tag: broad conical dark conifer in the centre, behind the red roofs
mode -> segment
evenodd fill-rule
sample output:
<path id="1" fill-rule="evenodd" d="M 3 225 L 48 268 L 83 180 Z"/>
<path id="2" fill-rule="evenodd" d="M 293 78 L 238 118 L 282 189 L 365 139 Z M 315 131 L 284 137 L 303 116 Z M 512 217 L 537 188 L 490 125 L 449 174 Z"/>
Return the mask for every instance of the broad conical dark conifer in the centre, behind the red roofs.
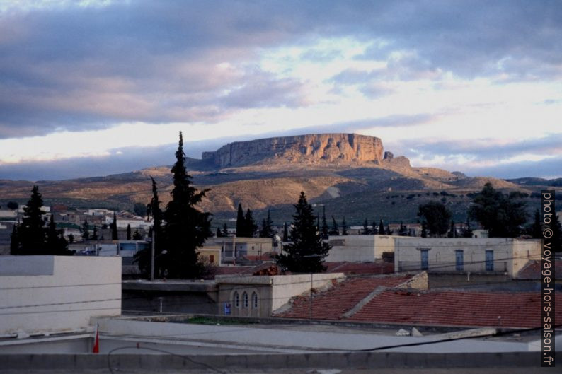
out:
<path id="1" fill-rule="evenodd" d="M 301 192 L 299 201 L 294 205 L 293 225 L 290 243 L 283 248 L 284 253 L 277 255 L 277 264 L 285 271 L 294 273 L 317 273 L 325 271 L 324 258 L 328 255 L 330 245 L 322 240 L 316 230 L 314 211 Z"/>

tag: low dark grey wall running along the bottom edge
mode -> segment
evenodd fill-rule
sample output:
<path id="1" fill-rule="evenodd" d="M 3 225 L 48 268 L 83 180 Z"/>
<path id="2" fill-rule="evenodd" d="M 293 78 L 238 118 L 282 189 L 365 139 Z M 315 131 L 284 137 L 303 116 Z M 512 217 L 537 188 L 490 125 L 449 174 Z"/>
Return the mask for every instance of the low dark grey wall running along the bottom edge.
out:
<path id="1" fill-rule="evenodd" d="M 179 356 L 166 354 L 0 355 L 3 370 L 202 368 L 540 368 L 539 352 L 512 353 L 306 353 Z M 477 359 L 476 359 L 477 357 Z M 562 352 L 556 352 L 556 361 Z"/>

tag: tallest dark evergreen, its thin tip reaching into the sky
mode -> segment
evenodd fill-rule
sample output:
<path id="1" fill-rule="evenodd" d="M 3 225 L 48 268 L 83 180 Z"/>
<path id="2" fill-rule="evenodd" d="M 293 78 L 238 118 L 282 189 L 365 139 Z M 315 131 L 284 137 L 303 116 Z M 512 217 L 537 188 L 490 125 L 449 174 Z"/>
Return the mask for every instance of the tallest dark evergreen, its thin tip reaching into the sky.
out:
<path id="1" fill-rule="evenodd" d="M 173 165 L 173 189 L 164 218 L 166 226 L 166 247 L 164 266 L 170 278 L 197 278 L 203 266 L 199 261 L 197 248 L 212 236 L 211 214 L 199 211 L 195 206 L 205 197 L 208 189 L 197 191 L 191 176 L 185 170 L 183 135 L 180 132 L 176 163 Z"/>

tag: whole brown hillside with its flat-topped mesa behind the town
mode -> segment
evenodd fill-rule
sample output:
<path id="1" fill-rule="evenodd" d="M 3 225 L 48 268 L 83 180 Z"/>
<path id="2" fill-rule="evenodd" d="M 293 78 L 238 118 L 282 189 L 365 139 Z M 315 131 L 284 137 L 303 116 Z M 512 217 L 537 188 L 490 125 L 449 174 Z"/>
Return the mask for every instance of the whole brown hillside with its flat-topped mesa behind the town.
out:
<path id="1" fill-rule="evenodd" d="M 201 160 L 188 159 L 187 165 L 195 185 L 210 188 L 201 207 L 211 211 L 217 223 L 234 218 L 239 203 L 256 211 L 258 220 L 271 209 L 276 223 L 290 221 L 300 191 L 324 206 L 328 217 L 345 216 L 355 225 L 365 218 L 415 222 L 418 204 L 431 199 L 444 201 L 454 219 L 464 221 L 471 194 L 486 182 L 505 192 L 529 194 L 529 212 L 539 204 L 530 195 L 549 184 L 539 178 L 507 181 L 413 168 L 407 158 L 384 152 L 381 139 L 357 134 L 237 142 L 205 152 Z M 0 180 L 0 205 L 10 200 L 25 204 L 37 184 L 46 204 L 132 209 L 135 202 L 150 200 L 150 176 L 158 182 L 160 198 L 166 203 L 172 185 L 170 167 L 157 166 L 55 182 Z"/>

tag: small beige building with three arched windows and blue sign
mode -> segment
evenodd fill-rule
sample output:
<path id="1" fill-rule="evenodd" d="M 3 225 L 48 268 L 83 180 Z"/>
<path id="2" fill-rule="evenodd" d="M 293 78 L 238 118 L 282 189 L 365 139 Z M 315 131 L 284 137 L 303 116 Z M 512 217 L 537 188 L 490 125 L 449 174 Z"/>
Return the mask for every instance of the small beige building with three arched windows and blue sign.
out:
<path id="1" fill-rule="evenodd" d="M 274 276 L 217 276 L 219 315 L 270 317 L 292 297 L 306 291 L 328 288 L 343 273 Z"/>

